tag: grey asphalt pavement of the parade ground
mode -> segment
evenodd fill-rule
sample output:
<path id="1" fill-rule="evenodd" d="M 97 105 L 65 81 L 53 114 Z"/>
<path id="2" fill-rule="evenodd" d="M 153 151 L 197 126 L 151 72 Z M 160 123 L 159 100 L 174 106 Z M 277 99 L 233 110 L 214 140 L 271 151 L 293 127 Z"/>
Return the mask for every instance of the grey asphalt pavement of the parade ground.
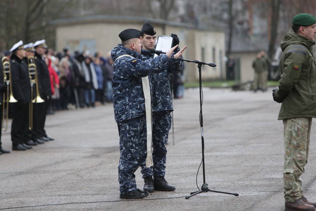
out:
<path id="1" fill-rule="evenodd" d="M 170 131 L 167 145 L 165 178 L 175 191 L 156 191 L 145 200 L 119 198 L 119 136 L 113 106 L 106 104 L 48 115 L 46 132 L 54 141 L 0 155 L 0 210 L 284 210 L 281 104 L 271 93 L 204 88 L 206 183 L 239 196 L 184 198 L 198 190 L 202 158 L 199 91 L 187 89 L 185 98 L 174 100 L 175 144 Z M 302 181 L 304 195 L 315 201 L 315 124 L 311 131 Z M 10 127 L 1 141 L 11 150 Z M 142 189 L 140 170 L 136 181 Z M 197 184 L 203 184 L 202 167 Z"/>

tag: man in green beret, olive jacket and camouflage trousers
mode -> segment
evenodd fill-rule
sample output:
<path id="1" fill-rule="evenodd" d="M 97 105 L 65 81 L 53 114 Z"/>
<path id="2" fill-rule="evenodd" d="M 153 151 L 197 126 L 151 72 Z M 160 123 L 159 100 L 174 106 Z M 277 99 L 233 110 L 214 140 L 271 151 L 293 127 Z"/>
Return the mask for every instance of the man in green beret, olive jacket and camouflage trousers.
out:
<path id="1" fill-rule="evenodd" d="M 307 164 L 312 117 L 316 117 L 316 18 L 302 13 L 293 18 L 292 24 L 281 42 L 282 75 L 278 88 L 273 90 L 273 99 L 282 102 L 278 119 L 284 124 L 285 210 L 315 210 L 316 203 L 303 196 L 300 176 Z"/>

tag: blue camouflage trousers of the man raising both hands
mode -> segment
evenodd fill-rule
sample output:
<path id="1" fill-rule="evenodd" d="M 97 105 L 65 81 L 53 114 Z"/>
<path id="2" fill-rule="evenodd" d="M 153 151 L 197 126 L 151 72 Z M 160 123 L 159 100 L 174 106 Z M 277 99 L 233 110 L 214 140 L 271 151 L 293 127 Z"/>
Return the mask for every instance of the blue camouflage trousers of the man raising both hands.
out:
<path id="1" fill-rule="evenodd" d="M 119 186 L 125 194 L 137 189 L 135 171 L 146 159 L 146 118 L 145 115 L 119 122 Z M 143 158 L 143 156 L 145 156 Z"/>

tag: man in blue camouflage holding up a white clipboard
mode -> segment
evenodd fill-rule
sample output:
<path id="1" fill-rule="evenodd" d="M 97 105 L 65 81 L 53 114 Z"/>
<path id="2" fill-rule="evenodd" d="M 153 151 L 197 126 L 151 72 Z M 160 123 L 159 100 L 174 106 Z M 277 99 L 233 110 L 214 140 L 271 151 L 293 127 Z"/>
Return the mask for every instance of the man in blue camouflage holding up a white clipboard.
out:
<path id="1" fill-rule="evenodd" d="M 140 40 L 143 44 L 142 57 L 145 60 L 153 58 L 154 54 L 149 50 L 155 47 L 156 42 L 155 28 L 145 23 L 142 28 Z M 179 44 L 179 39 L 176 34 L 173 37 L 173 46 Z M 176 52 L 179 52 L 179 47 Z M 175 187 L 168 184 L 165 180 L 166 169 L 166 144 L 168 141 L 168 134 L 171 128 L 171 115 L 173 111 L 172 99 L 170 94 L 170 85 L 168 73 L 176 73 L 183 71 L 183 61 L 171 60 L 168 66 L 159 73 L 150 75 L 151 93 L 152 93 L 152 111 L 153 111 L 153 161 L 152 168 L 146 168 L 145 159 L 141 164 L 143 179 L 145 182 L 144 190 L 154 192 L 154 190 L 172 191 Z M 146 158 L 146 157 L 145 157 Z M 154 175 L 154 180 L 153 180 Z"/>

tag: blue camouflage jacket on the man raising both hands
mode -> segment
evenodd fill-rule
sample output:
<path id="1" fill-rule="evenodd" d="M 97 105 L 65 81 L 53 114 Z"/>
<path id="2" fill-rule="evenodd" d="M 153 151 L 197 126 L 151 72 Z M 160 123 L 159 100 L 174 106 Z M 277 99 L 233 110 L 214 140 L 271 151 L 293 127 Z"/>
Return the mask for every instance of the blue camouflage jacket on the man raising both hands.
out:
<path id="1" fill-rule="evenodd" d="M 134 58 L 120 55 L 129 54 Z M 166 54 L 143 60 L 141 54 L 119 44 L 111 51 L 113 59 L 113 107 L 116 122 L 126 121 L 145 114 L 142 77 L 163 71 L 169 64 Z M 149 79 L 150 80 L 150 79 Z"/>

